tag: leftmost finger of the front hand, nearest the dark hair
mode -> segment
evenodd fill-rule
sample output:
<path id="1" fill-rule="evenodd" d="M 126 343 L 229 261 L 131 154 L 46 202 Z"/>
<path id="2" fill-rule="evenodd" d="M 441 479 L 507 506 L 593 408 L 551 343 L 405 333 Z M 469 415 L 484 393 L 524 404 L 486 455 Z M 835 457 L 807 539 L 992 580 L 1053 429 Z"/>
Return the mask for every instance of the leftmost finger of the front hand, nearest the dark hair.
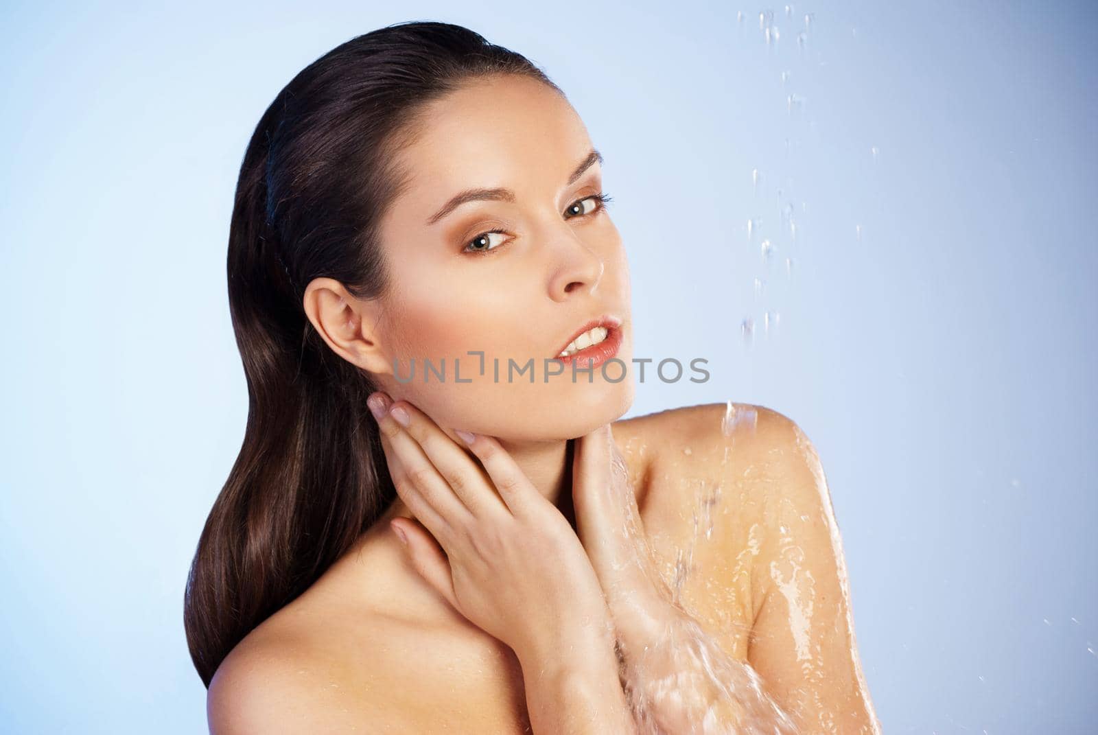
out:
<path id="1" fill-rule="evenodd" d="M 378 398 L 374 394 L 367 399 L 371 404 L 371 412 L 378 405 Z M 434 513 L 425 512 L 421 515 L 416 511 L 416 506 L 412 505 L 408 500 L 404 502 L 408 503 L 408 508 L 416 514 L 416 517 L 423 521 L 435 538 L 448 544 L 455 528 L 468 525 L 473 520 L 469 509 L 446 485 L 435 466 L 419 448 L 419 444 L 393 417 L 391 402 L 389 402 L 388 411 L 374 412 L 374 417 L 382 435 L 389 441 L 390 450 L 400 457 L 401 470 L 397 477 L 393 478 L 397 493 L 402 499 L 407 495 L 410 500 L 413 495 L 418 494 L 419 501 L 422 501 L 417 502 L 419 508 L 423 509 L 423 505 L 426 504 Z M 438 524 L 435 521 L 437 517 L 440 517 L 445 524 Z"/>

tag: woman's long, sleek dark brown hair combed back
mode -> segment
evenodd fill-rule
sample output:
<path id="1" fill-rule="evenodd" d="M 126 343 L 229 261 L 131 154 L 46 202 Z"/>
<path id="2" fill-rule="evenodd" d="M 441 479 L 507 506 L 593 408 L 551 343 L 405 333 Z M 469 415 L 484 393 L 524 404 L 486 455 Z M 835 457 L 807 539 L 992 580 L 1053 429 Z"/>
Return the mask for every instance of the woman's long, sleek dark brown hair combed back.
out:
<path id="1" fill-rule="evenodd" d="M 209 687 L 251 630 L 310 587 L 395 499 L 366 399 L 302 308 L 334 278 L 392 287 L 378 224 L 406 186 L 395 154 L 425 104 L 496 74 L 560 89 L 526 57 L 460 25 L 389 25 L 333 48 L 278 93 L 248 142 L 228 231 L 228 305 L 248 385 L 239 456 L 199 538 L 183 601 Z"/>

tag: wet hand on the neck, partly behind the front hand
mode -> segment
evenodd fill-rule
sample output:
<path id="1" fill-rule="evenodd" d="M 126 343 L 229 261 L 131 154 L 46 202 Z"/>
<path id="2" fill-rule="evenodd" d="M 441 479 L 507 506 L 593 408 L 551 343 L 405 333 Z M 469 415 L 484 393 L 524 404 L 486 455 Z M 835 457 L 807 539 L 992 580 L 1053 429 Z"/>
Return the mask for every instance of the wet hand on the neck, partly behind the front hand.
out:
<path id="1" fill-rule="evenodd" d="M 628 468 L 609 424 L 575 439 L 572 503 L 576 535 L 606 595 L 620 643 L 642 649 L 680 611 L 648 546 Z"/>

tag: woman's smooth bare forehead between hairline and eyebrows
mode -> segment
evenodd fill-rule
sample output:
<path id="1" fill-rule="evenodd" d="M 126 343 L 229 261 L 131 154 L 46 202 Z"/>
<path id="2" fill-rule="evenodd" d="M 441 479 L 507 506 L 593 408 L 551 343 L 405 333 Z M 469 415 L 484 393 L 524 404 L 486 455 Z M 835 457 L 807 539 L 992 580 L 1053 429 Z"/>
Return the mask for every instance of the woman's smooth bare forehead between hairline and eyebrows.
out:
<path id="1" fill-rule="evenodd" d="M 572 105 L 544 82 L 514 75 L 469 82 L 426 109 L 401 152 L 408 197 L 418 200 L 406 203 L 437 208 L 440 196 L 479 186 L 556 189 L 591 147 Z"/>

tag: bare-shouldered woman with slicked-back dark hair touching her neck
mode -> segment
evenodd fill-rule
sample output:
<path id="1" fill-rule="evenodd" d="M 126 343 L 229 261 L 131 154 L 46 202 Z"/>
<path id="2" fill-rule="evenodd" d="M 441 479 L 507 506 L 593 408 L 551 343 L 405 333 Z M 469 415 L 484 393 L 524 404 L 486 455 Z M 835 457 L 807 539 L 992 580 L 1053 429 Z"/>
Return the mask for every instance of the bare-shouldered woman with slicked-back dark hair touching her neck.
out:
<path id="1" fill-rule="evenodd" d="M 186 600 L 212 732 L 877 732 L 796 424 L 618 420 L 601 163 L 537 67 L 445 23 L 266 111 L 229 233 L 248 424 Z"/>

